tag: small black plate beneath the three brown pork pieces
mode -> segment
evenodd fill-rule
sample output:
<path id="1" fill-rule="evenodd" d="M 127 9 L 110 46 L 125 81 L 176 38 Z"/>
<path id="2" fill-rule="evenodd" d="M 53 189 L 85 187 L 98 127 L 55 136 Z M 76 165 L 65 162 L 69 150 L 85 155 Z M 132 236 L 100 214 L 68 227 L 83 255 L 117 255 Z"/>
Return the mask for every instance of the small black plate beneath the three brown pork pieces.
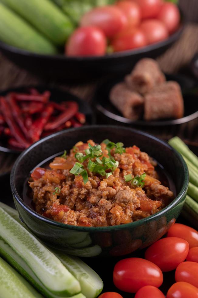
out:
<path id="1" fill-rule="evenodd" d="M 111 88 L 120 81 L 123 81 L 123 76 L 119 78 L 109 79 L 98 86 L 94 100 L 97 113 L 102 114 L 103 119 L 118 123 L 141 125 L 141 126 L 166 126 L 188 122 L 198 117 L 198 91 L 195 89 L 196 81 L 183 75 L 166 75 L 166 79 L 177 81 L 182 88 L 184 98 L 184 117 L 180 119 L 165 119 L 157 121 L 145 121 L 143 119 L 132 121 L 121 115 L 121 113 L 111 104 L 109 100 L 109 92 Z M 104 120 L 103 120 L 104 121 Z M 104 124 L 104 123 L 103 123 Z"/>

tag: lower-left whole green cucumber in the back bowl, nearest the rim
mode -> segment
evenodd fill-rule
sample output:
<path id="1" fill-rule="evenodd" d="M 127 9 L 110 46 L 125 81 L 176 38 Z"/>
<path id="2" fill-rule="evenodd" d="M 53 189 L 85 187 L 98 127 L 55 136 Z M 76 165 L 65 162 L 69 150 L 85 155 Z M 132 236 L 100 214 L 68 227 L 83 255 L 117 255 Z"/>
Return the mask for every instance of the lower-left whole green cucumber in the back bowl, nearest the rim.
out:
<path id="1" fill-rule="evenodd" d="M 49 40 L 2 3 L 0 3 L 0 40 L 30 52 L 40 54 L 57 52 Z"/>

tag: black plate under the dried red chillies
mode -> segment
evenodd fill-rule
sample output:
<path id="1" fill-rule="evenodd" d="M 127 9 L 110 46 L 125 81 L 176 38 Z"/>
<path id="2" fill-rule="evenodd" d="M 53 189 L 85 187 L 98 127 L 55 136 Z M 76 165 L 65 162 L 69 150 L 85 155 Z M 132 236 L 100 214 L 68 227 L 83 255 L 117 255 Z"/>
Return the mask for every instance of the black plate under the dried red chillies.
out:
<path id="1" fill-rule="evenodd" d="M 9 92 L 26 92 L 29 88 L 36 88 L 41 93 L 44 92 L 45 90 L 49 90 L 51 92 L 50 100 L 52 100 L 54 102 L 62 102 L 62 101 L 77 102 L 79 105 L 79 111 L 81 113 L 84 113 L 86 116 L 86 120 L 87 120 L 86 123 L 94 124 L 94 122 L 95 122 L 94 115 L 93 115 L 92 109 L 90 108 L 88 103 L 85 102 L 84 100 L 78 98 L 77 96 L 72 95 L 71 93 L 61 90 L 61 89 L 47 87 L 47 86 L 23 86 L 23 87 L 19 87 L 19 88 L 11 88 L 11 89 L 7 89 L 5 91 L 1 91 L 0 96 L 4 96 Z M 22 150 L 8 145 L 6 140 L 2 141 L 0 138 L 0 151 L 19 154 L 19 153 L 21 153 Z"/>

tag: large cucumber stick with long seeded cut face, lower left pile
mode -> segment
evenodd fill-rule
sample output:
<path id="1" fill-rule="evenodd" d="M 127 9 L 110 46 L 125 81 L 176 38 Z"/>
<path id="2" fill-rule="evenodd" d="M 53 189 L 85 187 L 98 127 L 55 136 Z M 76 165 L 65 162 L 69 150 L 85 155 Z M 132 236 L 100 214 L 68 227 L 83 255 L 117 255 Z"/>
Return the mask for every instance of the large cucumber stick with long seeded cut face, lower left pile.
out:
<path id="1" fill-rule="evenodd" d="M 42 284 L 58 296 L 80 293 L 80 284 L 58 258 L 0 207 L 0 236 L 32 269 Z"/>

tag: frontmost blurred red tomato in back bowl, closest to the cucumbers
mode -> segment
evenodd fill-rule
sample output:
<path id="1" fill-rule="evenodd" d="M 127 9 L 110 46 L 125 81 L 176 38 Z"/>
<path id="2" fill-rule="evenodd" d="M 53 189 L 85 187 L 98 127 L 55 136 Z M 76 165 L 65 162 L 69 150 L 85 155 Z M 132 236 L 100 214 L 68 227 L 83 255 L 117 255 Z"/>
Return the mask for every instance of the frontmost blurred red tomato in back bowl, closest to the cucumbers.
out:
<path id="1" fill-rule="evenodd" d="M 100 56 L 106 52 L 104 33 L 93 26 L 76 29 L 66 45 L 68 56 Z"/>

